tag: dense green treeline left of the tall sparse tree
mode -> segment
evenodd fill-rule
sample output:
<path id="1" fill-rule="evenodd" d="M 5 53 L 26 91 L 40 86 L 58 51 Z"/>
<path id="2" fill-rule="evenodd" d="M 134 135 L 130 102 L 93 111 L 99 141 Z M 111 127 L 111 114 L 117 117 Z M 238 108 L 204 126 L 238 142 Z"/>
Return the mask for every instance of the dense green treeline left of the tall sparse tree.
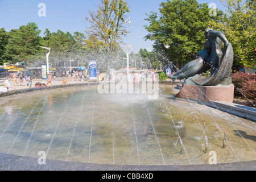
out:
<path id="1" fill-rule="evenodd" d="M 58 61 L 65 60 L 67 57 L 75 58 L 84 49 L 85 35 L 80 32 L 50 32 L 48 28 L 44 32 L 44 37 L 40 37 L 40 30 L 36 23 L 28 23 L 26 26 L 20 26 L 6 32 L 4 28 L 0 29 L 0 65 L 4 62 L 15 64 L 24 61 L 27 65 L 33 65 L 35 60 L 45 60 L 46 49 L 51 48 L 51 63 L 53 67 Z"/>

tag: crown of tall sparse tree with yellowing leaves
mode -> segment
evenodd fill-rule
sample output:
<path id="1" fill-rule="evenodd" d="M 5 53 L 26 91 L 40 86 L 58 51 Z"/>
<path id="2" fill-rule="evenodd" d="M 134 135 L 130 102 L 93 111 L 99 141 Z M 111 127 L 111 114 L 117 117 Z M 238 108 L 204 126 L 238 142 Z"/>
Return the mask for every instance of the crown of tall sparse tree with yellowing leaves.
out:
<path id="1" fill-rule="evenodd" d="M 91 25 L 85 31 L 88 37 L 86 47 L 117 51 L 121 36 L 127 33 L 123 27 L 127 12 L 129 7 L 123 0 L 101 0 L 97 12 L 89 10 L 89 16 L 85 17 Z"/>

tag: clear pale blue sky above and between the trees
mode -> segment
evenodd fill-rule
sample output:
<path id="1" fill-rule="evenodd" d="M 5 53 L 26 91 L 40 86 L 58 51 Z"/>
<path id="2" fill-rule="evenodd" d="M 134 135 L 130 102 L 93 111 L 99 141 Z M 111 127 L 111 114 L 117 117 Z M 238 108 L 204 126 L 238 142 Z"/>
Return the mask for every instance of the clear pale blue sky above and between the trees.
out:
<path id="1" fill-rule="evenodd" d="M 131 18 L 129 24 L 129 35 L 123 38 L 125 44 L 131 45 L 130 52 L 137 53 L 140 48 L 146 48 L 152 51 L 150 40 L 145 41 L 144 36 L 147 31 L 144 25 L 148 22 L 144 20 L 151 11 L 159 12 L 159 5 L 166 0 L 126 0 L 130 7 L 130 13 L 127 13 L 127 19 Z M 220 0 L 197 0 L 199 3 L 215 3 L 216 7 L 222 11 L 225 10 Z M 42 9 L 39 3 L 46 5 L 45 16 L 39 16 L 38 11 Z M 51 32 L 61 30 L 64 32 L 84 32 L 86 26 L 85 16 L 88 10 L 97 10 L 100 0 L 0 0 L 0 28 L 6 31 L 19 28 L 29 22 L 35 22 L 39 30 L 42 30 L 40 36 L 43 36 L 46 28 Z M 39 6 L 39 7 L 38 7 Z M 40 11 L 41 12 L 41 11 Z"/>

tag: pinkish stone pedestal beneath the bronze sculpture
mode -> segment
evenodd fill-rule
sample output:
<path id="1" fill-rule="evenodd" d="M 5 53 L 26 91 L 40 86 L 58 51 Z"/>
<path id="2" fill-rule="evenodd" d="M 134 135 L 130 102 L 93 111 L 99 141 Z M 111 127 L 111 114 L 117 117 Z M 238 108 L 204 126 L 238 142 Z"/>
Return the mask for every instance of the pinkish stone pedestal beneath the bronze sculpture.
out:
<path id="1" fill-rule="evenodd" d="M 175 97 L 187 98 L 196 101 L 226 101 L 233 102 L 234 85 L 228 86 L 198 86 L 183 84 Z"/>

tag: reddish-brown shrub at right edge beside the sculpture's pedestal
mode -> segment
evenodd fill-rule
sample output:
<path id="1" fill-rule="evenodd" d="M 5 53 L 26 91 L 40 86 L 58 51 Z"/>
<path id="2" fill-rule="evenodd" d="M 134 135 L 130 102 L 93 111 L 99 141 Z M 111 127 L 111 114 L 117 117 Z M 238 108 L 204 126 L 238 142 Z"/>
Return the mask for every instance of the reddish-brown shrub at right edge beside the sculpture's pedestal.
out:
<path id="1" fill-rule="evenodd" d="M 235 86 L 235 94 L 243 94 L 246 98 L 256 103 L 256 74 L 254 73 L 233 73 L 232 82 Z"/>

